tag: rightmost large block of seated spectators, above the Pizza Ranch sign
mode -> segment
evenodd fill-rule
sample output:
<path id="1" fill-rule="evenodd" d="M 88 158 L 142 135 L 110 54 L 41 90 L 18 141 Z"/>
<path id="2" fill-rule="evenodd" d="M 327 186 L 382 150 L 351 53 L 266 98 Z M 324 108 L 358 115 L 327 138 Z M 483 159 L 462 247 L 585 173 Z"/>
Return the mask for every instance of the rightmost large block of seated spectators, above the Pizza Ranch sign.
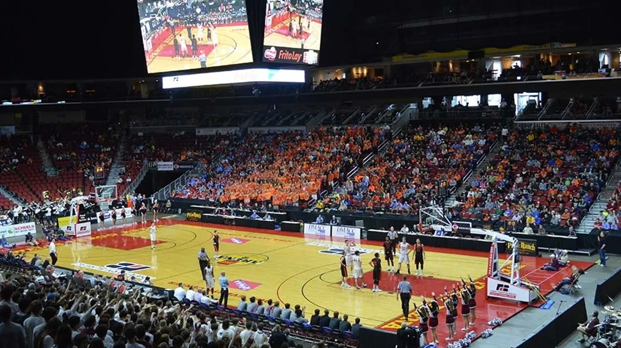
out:
<path id="1" fill-rule="evenodd" d="M 516 130 L 458 196 L 453 216 L 577 225 L 619 157 L 615 129 Z"/>

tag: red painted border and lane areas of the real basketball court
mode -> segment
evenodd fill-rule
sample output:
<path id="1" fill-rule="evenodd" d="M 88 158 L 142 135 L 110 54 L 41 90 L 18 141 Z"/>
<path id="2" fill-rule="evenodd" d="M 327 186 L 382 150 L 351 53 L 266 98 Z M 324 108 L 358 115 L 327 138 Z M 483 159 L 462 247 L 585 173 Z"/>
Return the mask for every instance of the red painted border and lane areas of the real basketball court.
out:
<path id="1" fill-rule="evenodd" d="M 302 235 L 301 233 L 294 233 L 294 232 L 280 232 L 280 231 L 271 231 L 271 230 L 261 230 L 258 228 L 237 227 L 237 226 L 232 226 L 232 227 L 226 226 L 225 227 L 223 225 L 204 224 L 201 222 L 190 222 L 190 221 L 171 220 L 171 219 L 161 219 L 159 224 L 160 225 L 184 224 L 184 225 L 194 225 L 194 226 L 201 226 L 201 227 L 211 227 L 211 228 L 234 228 L 237 230 L 263 233 L 263 234 L 269 234 L 269 235 L 274 235 L 274 236 L 286 235 L 289 237 L 300 237 L 300 238 L 304 237 L 304 235 Z M 134 248 L 138 248 L 138 247 L 141 247 L 142 244 L 145 244 L 144 246 L 147 246 L 150 244 L 150 241 L 148 241 L 147 239 L 127 237 L 127 236 L 124 236 L 123 233 L 130 232 L 137 228 L 144 228 L 145 226 L 149 226 L 149 225 L 150 225 L 150 221 L 144 225 L 143 224 L 136 224 L 136 225 L 127 224 L 124 226 L 119 226 L 119 227 L 114 227 L 114 228 L 112 227 L 103 228 L 99 232 L 93 232 L 94 237 L 99 237 L 99 238 L 93 238 L 93 244 L 96 244 L 98 243 L 99 240 L 101 240 L 102 246 L 107 246 L 107 247 L 112 247 L 112 248 L 121 248 L 124 250 L 131 250 Z M 110 238 L 107 238 L 107 237 L 110 237 Z M 133 238 L 133 239 L 129 240 L 127 238 Z M 109 240 L 109 241 L 114 240 L 114 243 L 109 244 L 106 242 L 106 240 Z M 334 241 L 337 241 L 337 240 L 334 240 Z M 47 240 L 39 240 L 39 242 L 42 243 L 42 245 L 39 247 L 18 245 L 16 250 L 26 251 L 26 250 L 38 250 L 42 248 L 47 248 L 47 245 L 48 245 Z M 67 241 L 60 242 L 60 243 L 67 243 Z M 138 246 L 137 244 L 141 246 Z M 381 246 L 381 243 L 379 241 L 362 240 L 361 245 Z M 447 249 L 447 248 L 431 248 L 431 247 L 428 247 L 427 250 L 434 251 L 434 252 L 440 252 L 440 253 L 453 253 L 453 254 L 459 253 L 459 254 L 468 254 L 472 256 L 483 256 L 483 257 L 488 256 L 488 253 L 483 252 L 483 251 L 453 250 L 453 249 Z M 503 259 L 502 255 L 500 258 L 502 262 L 502 259 Z M 552 291 L 556 283 L 558 283 L 559 281 L 561 281 L 561 279 L 571 274 L 571 266 L 563 268 L 558 272 L 549 272 L 549 271 L 541 270 L 540 268 L 543 266 L 543 264 L 548 262 L 548 260 L 549 258 L 546 257 L 545 255 L 544 257 L 541 257 L 541 258 L 535 258 L 533 256 L 523 256 L 522 263 L 520 264 L 520 275 L 522 276 L 522 278 L 532 282 L 533 284 L 540 285 L 543 295 L 549 294 Z M 576 265 L 578 268 L 582 268 L 585 270 L 588 268 L 591 268 L 591 266 L 594 265 L 594 263 L 584 262 L 584 261 L 571 261 L 570 264 Z M 458 265 L 455 265 L 455 266 L 458 267 Z M 364 276 L 364 279 L 367 284 L 373 284 L 371 272 L 367 272 Z M 397 276 L 395 274 L 392 274 L 391 272 L 383 272 L 382 279 L 380 282 L 380 287 L 386 292 L 392 292 L 394 291 L 394 289 L 396 289 L 396 285 L 400 280 L 401 280 L 401 276 Z M 430 298 L 432 297 L 431 296 L 432 292 L 435 292 L 436 294 L 442 294 L 445 285 L 451 288 L 452 285 L 455 284 L 455 281 L 450 281 L 450 280 L 442 279 L 438 277 L 434 277 L 434 278 L 424 277 L 423 279 L 420 279 L 415 276 L 408 276 L 408 280 L 412 283 L 412 287 L 414 288 L 413 300 L 415 300 L 417 303 L 420 303 L 420 296 Z M 485 295 L 486 294 L 486 282 L 485 282 L 484 277 L 482 277 L 481 279 L 477 279 L 476 285 L 478 288 L 478 292 L 476 295 L 476 302 L 477 302 L 476 317 L 477 318 L 476 318 L 476 326 L 474 326 L 471 329 L 474 329 L 474 331 L 477 333 L 477 336 L 479 336 L 479 334 L 483 332 L 485 329 L 489 328 L 489 326 L 487 326 L 487 321 L 492 320 L 493 318 L 501 318 L 503 321 L 506 321 L 527 307 L 527 305 L 524 305 L 522 303 L 515 303 L 515 302 L 509 302 L 509 301 L 497 300 L 497 299 L 487 299 Z M 440 312 L 440 318 L 439 318 L 440 325 L 438 326 L 438 336 L 440 338 L 441 343 L 446 342 L 445 337 L 448 336 L 448 329 L 446 328 L 446 325 L 445 325 L 445 319 L 446 319 L 446 311 L 442 309 Z M 404 317 L 402 315 L 396 316 L 392 320 L 389 320 L 386 323 L 379 325 L 377 328 L 384 329 L 387 331 L 396 331 L 396 329 L 401 327 L 401 323 L 403 320 L 404 320 Z M 408 323 L 418 324 L 418 317 L 413 308 L 412 308 L 412 311 L 410 311 Z M 459 318 L 457 318 L 457 321 L 456 321 L 456 339 L 460 339 L 465 336 L 465 333 L 461 331 L 461 328 L 463 328 L 463 318 L 460 316 Z"/>

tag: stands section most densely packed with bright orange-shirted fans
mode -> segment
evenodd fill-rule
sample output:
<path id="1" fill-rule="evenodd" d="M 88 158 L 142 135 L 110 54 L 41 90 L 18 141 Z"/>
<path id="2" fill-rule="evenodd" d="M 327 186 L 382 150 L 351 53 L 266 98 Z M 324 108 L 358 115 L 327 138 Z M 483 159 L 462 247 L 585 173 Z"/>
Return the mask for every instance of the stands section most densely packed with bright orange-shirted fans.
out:
<path id="1" fill-rule="evenodd" d="M 304 204 L 373 152 L 386 129 L 315 128 L 310 133 L 248 134 L 229 144 L 213 173 L 177 197 L 231 202 Z"/>

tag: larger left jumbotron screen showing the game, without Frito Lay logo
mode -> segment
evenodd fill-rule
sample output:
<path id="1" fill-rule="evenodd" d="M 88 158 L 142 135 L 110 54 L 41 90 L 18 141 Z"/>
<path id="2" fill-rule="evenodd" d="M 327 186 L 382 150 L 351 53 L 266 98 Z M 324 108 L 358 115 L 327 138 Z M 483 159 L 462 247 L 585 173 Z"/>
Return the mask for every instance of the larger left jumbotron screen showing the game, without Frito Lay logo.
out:
<path id="1" fill-rule="evenodd" d="M 252 63 L 245 0 L 137 0 L 149 74 Z"/>

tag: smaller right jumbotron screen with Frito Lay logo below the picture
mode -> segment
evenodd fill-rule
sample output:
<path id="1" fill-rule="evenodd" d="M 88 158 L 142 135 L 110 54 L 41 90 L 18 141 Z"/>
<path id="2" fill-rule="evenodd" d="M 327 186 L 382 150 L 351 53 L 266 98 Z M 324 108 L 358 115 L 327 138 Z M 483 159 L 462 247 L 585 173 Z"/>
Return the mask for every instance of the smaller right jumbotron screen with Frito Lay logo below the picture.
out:
<path id="1" fill-rule="evenodd" d="M 324 0 L 268 0 L 263 61 L 318 64 Z"/>

